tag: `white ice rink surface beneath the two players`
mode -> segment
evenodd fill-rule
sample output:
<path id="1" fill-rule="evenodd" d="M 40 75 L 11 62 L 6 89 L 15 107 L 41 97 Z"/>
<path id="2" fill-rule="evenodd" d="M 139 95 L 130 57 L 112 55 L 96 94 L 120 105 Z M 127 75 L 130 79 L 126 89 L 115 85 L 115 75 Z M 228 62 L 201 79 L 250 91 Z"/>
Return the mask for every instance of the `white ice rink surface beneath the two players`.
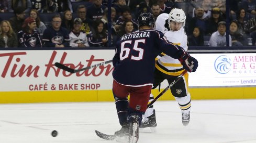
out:
<path id="1" fill-rule="evenodd" d="M 192 100 L 191 121 L 183 126 L 176 101 L 154 103 L 157 132 L 140 133 L 138 142 L 256 142 L 256 100 Z M 95 129 L 120 129 L 114 102 L 0 105 L 0 142 L 116 142 Z M 58 131 L 57 137 L 51 132 Z"/>

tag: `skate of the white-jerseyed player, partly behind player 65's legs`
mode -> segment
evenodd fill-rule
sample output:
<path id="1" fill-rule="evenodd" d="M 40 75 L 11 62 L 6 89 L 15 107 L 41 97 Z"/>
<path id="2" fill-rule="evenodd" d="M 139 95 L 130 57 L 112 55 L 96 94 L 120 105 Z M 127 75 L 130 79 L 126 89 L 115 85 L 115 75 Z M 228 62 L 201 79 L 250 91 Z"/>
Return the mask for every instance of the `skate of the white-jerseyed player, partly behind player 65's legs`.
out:
<path id="1" fill-rule="evenodd" d="M 157 126 L 157 120 L 155 120 L 155 110 L 153 110 L 152 115 L 142 119 L 140 128 L 150 127 L 151 132 L 155 132 L 156 126 Z"/>

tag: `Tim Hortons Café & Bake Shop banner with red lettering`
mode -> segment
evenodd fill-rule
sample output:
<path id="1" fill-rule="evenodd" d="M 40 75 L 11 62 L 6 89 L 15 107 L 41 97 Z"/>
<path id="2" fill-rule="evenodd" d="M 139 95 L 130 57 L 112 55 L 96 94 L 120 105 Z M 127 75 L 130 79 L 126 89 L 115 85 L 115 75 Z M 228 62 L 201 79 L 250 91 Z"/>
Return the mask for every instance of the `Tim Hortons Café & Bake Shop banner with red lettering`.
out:
<path id="1" fill-rule="evenodd" d="M 82 69 L 112 60 L 114 54 L 115 50 L 0 50 L 0 92 L 111 89 L 111 62 L 76 73 L 54 63 Z"/>

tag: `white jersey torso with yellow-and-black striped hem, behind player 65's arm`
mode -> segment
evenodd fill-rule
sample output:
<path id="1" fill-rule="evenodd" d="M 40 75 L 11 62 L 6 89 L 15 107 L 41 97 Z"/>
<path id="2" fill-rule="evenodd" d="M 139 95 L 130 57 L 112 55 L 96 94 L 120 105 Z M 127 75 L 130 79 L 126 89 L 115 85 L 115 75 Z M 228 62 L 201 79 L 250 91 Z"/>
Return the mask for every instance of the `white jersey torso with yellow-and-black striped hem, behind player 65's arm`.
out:
<path id="1" fill-rule="evenodd" d="M 187 35 L 183 27 L 178 31 L 163 31 L 167 40 L 172 42 L 174 45 L 179 45 L 187 51 Z M 180 75 L 184 70 L 182 69 L 182 64 L 179 60 L 174 59 L 170 56 L 163 54 L 155 64 L 155 68 L 161 72 L 173 76 Z"/>

